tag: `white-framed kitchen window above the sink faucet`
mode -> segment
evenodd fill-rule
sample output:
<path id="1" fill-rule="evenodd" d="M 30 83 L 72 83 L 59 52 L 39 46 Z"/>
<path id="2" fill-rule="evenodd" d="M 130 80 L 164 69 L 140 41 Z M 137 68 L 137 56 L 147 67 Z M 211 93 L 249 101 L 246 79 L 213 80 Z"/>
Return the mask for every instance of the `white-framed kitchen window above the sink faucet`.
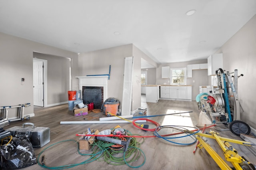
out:
<path id="1" fill-rule="evenodd" d="M 170 69 L 170 85 L 186 85 L 186 67 Z"/>

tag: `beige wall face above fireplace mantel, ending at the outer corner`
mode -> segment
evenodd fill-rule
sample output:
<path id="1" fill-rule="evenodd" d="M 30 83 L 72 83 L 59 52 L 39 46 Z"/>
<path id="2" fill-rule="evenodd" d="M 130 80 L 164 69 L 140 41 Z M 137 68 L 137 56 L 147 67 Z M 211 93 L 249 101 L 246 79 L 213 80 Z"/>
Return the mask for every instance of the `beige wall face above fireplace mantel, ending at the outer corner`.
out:
<path id="1" fill-rule="evenodd" d="M 76 76 L 108 74 L 111 65 L 107 97 L 116 98 L 120 102 L 119 109 L 121 109 L 125 57 L 132 57 L 132 44 L 80 53 L 79 73 Z"/>

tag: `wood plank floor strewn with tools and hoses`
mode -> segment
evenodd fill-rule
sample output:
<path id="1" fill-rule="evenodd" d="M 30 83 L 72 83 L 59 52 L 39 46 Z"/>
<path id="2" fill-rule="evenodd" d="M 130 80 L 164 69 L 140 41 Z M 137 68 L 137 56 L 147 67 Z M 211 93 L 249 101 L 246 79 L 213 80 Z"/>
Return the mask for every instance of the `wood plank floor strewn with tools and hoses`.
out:
<path id="1" fill-rule="evenodd" d="M 188 112 L 192 113 L 183 113 L 176 115 L 160 116 L 160 117 L 149 117 L 148 119 L 158 122 L 160 125 L 176 125 L 176 126 L 188 126 L 195 127 L 198 123 L 199 113 L 196 101 L 170 101 L 170 100 L 160 100 L 158 103 L 146 103 L 142 96 L 142 105 L 141 107 L 147 108 L 147 115 L 162 115 L 169 113 L 179 113 L 179 112 Z M 132 134 L 140 134 L 146 136 L 154 135 L 153 132 L 144 132 L 131 123 L 107 123 L 107 124 L 68 124 L 60 125 L 60 121 L 86 121 L 89 117 L 94 117 L 91 119 L 96 121 L 99 117 L 106 117 L 102 113 L 90 113 L 88 116 L 74 117 L 72 111 L 68 111 L 68 105 L 60 105 L 56 107 L 48 108 L 38 108 L 34 109 L 35 117 L 31 117 L 27 121 L 16 121 L 11 122 L 10 125 L 4 127 L 5 129 L 22 126 L 25 122 L 34 123 L 36 127 L 49 127 L 50 128 L 50 143 L 46 144 L 42 148 L 34 148 L 36 157 L 40 154 L 42 150 L 46 147 L 60 142 L 63 140 L 78 140 L 76 134 L 82 134 L 87 131 L 87 128 L 98 129 L 99 131 L 114 128 L 117 125 L 120 125 L 122 128 L 129 130 Z M 134 116 L 142 116 L 138 113 Z M 132 120 L 132 119 L 130 119 Z M 144 123 L 149 125 L 149 128 L 154 128 L 155 126 L 152 123 Z M 222 125 L 220 125 L 222 126 Z M 214 130 L 214 128 L 206 129 L 207 131 Z M 160 134 L 171 133 L 172 130 L 166 128 L 160 130 Z M 239 136 L 232 134 L 228 131 L 219 131 L 220 136 L 226 138 L 233 138 L 237 140 L 242 140 Z M 174 133 L 176 131 L 174 130 Z M 142 138 L 138 138 L 138 141 L 142 141 Z M 175 138 L 169 139 L 177 143 L 190 143 L 194 141 L 190 137 L 184 138 Z M 208 139 L 208 143 L 212 146 L 218 154 L 224 158 L 222 150 L 215 140 Z M 232 143 L 231 143 L 232 144 Z M 193 150 L 196 146 L 195 144 L 191 145 L 179 145 L 169 141 L 166 141 L 162 138 L 151 137 L 145 138 L 145 141 L 141 144 L 140 149 L 146 155 L 146 162 L 140 168 L 130 168 L 126 164 L 124 165 L 112 165 L 104 161 L 95 160 L 88 164 L 82 164 L 70 168 L 75 169 L 86 169 L 86 170 L 130 170 L 130 169 L 140 169 L 140 170 L 216 170 L 220 169 L 218 165 L 214 162 L 212 157 L 206 152 L 204 148 L 197 149 L 195 153 Z M 232 146 L 238 151 L 240 156 L 244 156 L 252 164 L 256 165 L 256 157 L 248 148 L 239 144 L 232 144 Z M 83 154 L 91 153 L 92 151 L 81 151 Z M 56 144 L 43 153 L 45 156 L 44 162 L 46 166 L 61 166 L 66 164 L 75 164 L 80 163 L 89 158 L 89 156 L 82 156 L 78 153 L 77 144 L 73 141 L 62 142 Z M 42 156 L 42 155 L 41 155 Z M 121 156 L 122 157 L 122 156 Z M 41 161 L 41 158 L 39 159 Z M 138 166 L 142 164 L 143 156 L 136 162 L 130 163 L 132 166 Z M 230 164 L 230 166 L 232 166 Z M 45 169 L 39 164 L 35 164 L 29 167 L 24 168 L 24 170 L 42 170 Z"/>

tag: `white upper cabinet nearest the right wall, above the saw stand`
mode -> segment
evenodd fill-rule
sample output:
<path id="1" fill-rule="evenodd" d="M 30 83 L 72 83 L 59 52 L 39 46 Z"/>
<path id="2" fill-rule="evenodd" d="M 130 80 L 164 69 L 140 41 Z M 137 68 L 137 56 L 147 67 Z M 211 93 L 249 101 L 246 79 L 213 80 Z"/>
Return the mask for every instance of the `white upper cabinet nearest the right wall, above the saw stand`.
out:
<path id="1" fill-rule="evenodd" d="M 216 69 L 223 68 L 222 53 L 210 55 L 207 59 L 208 75 L 216 75 Z"/>

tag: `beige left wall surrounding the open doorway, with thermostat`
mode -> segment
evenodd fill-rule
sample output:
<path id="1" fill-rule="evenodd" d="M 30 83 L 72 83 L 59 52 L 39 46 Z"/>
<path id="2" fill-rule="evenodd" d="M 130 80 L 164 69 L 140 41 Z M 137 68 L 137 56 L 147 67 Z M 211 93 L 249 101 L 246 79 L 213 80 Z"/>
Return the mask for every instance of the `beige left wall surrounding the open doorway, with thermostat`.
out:
<path id="1" fill-rule="evenodd" d="M 34 51 L 69 57 L 72 58 L 74 65 L 77 65 L 78 63 L 77 53 L 0 33 L 0 106 L 13 106 L 31 103 L 31 107 L 25 107 L 24 114 L 29 115 L 34 113 Z M 73 77 L 76 75 L 76 72 L 76 67 L 72 68 Z M 23 85 L 21 85 L 21 78 L 25 78 Z M 73 83 L 75 85 L 77 84 L 76 82 Z M 11 113 L 10 111 L 9 116 L 9 118 L 16 117 L 16 113 Z"/>

